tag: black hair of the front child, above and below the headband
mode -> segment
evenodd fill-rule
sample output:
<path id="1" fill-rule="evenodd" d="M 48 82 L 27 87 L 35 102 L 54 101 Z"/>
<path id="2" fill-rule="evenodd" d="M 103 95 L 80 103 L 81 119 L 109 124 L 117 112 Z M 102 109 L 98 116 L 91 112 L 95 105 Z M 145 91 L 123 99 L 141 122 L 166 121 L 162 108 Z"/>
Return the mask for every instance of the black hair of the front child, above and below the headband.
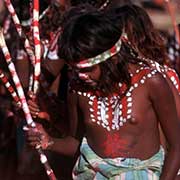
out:
<path id="1" fill-rule="evenodd" d="M 82 59 L 99 55 L 115 45 L 122 30 L 123 23 L 116 26 L 106 13 L 100 11 L 88 11 L 74 16 L 63 27 L 59 39 L 59 57 L 69 64 L 74 64 Z M 130 50 L 128 44 L 122 43 L 118 54 L 99 64 L 102 73 L 97 88 L 105 95 L 116 92 L 116 85 L 119 82 L 126 83 L 127 87 L 130 87 L 128 63 L 137 63 Z M 112 58 L 116 58 L 118 63 L 115 64 Z M 72 84 L 73 86 L 78 84 L 78 88 L 84 91 L 92 90 L 92 87 L 88 87 L 81 80 Z"/>

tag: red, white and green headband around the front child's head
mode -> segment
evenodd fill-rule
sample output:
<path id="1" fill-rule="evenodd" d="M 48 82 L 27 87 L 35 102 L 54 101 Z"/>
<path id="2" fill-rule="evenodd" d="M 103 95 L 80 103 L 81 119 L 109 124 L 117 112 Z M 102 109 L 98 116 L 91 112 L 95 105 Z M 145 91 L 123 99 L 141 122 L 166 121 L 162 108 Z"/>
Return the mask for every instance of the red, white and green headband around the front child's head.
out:
<path id="1" fill-rule="evenodd" d="M 105 51 L 93 58 L 89 58 L 89 59 L 80 61 L 79 63 L 76 64 L 76 67 L 80 68 L 80 69 L 88 68 L 88 67 L 94 66 L 96 64 L 99 64 L 101 62 L 104 62 L 107 59 L 109 59 L 110 57 L 114 56 L 121 50 L 121 44 L 122 44 L 123 37 L 127 37 L 127 35 L 125 33 L 122 33 L 120 39 L 116 42 L 116 44 L 112 48 L 108 49 L 107 51 Z"/>

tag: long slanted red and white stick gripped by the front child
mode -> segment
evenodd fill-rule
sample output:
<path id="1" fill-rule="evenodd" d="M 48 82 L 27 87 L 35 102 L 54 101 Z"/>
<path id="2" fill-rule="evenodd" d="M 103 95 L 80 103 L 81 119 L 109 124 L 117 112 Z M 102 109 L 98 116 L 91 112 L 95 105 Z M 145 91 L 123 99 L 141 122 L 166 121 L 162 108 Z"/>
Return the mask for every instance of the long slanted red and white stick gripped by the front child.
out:
<path id="1" fill-rule="evenodd" d="M 21 85 L 19 77 L 16 73 L 16 69 L 15 69 L 15 66 L 12 62 L 12 58 L 11 58 L 11 55 L 9 53 L 9 50 L 7 48 L 2 29 L 0 29 L 0 47 L 2 49 L 4 57 L 5 57 L 6 62 L 8 64 L 8 68 L 9 68 L 9 71 L 10 71 L 11 76 L 13 78 L 14 84 L 16 86 L 17 93 L 19 95 L 19 99 L 20 99 L 21 104 L 22 104 L 22 109 L 23 109 L 25 117 L 26 117 L 26 122 L 29 126 L 36 128 L 36 124 L 32 119 L 32 116 L 31 116 L 31 113 L 30 113 L 30 110 L 29 110 L 29 107 L 28 107 L 28 104 L 26 101 L 26 97 L 24 95 L 22 85 Z M 45 154 L 43 153 L 42 149 L 39 148 L 37 150 L 38 150 L 38 153 L 40 155 L 41 163 L 44 165 L 49 179 L 50 180 L 56 180 L 55 174 L 54 174 L 53 170 L 51 169 L 51 167 L 47 161 L 47 158 L 46 158 Z"/>

